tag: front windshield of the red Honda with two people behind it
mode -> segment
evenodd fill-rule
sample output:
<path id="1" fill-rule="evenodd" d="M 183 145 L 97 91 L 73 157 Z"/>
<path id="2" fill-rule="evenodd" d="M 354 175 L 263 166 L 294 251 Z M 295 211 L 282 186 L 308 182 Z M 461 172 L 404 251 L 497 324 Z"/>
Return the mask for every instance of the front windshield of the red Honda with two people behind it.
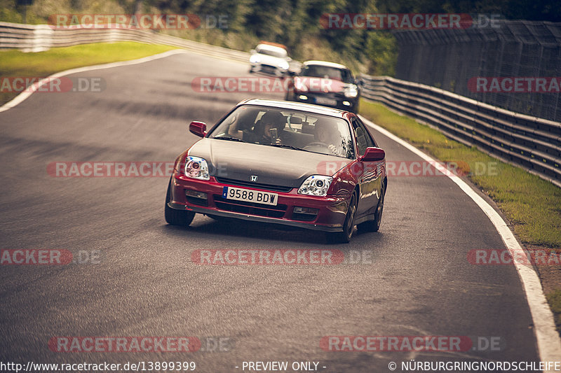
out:
<path id="1" fill-rule="evenodd" d="M 346 120 L 305 111 L 243 105 L 224 118 L 208 137 L 354 158 Z"/>

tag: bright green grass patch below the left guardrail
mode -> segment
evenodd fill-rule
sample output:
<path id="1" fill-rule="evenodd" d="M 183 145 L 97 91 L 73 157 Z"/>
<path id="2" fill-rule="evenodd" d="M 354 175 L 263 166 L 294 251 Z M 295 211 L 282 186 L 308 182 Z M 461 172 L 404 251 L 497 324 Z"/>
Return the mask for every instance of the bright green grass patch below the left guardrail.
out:
<path id="1" fill-rule="evenodd" d="M 43 78 L 75 67 L 137 59 L 172 49 L 176 48 L 169 45 L 126 41 L 74 45 L 35 53 L 24 53 L 19 50 L 0 51 L 0 78 Z M 17 95 L 18 92 L 0 92 L 0 105 Z"/>

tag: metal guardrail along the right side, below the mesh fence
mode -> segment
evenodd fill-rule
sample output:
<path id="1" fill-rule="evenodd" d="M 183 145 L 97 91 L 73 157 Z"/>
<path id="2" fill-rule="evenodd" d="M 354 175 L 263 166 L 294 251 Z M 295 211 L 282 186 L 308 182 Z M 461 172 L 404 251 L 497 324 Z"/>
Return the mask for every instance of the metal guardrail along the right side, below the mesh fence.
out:
<path id="1" fill-rule="evenodd" d="M 561 188 L 561 123 L 507 111 L 429 85 L 362 76 L 363 97 L 523 167 Z"/>

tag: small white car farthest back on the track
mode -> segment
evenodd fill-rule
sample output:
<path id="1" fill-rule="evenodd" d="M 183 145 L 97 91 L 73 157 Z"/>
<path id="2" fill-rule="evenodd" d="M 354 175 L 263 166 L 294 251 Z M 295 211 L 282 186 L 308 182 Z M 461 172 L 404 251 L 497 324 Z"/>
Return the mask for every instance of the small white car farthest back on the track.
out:
<path id="1" fill-rule="evenodd" d="M 288 73 L 290 61 L 292 59 L 288 57 L 284 45 L 262 41 L 251 51 L 250 73 L 262 72 L 275 76 L 285 76 Z"/>

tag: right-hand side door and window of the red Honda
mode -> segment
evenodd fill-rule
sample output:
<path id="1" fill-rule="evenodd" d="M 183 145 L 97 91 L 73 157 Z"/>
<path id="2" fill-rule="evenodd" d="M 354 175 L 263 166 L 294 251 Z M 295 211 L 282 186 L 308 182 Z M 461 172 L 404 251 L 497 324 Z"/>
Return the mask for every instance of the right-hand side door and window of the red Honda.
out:
<path id="1" fill-rule="evenodd" d="M 358 155 L 364 155 L 366 148 L 376 147 L 376 143 L 366 129 L 363 122 L 357 117 L 351 118 L 351 125 L 355 134 Z M 357 175 L 360 195 L 358 196 L 357 216 L 365 216 L 374 213 L 378 205 L 381 190 L 381 173 L 379 172 L 380 162 L 358 161 L 360 175 Z"/>

